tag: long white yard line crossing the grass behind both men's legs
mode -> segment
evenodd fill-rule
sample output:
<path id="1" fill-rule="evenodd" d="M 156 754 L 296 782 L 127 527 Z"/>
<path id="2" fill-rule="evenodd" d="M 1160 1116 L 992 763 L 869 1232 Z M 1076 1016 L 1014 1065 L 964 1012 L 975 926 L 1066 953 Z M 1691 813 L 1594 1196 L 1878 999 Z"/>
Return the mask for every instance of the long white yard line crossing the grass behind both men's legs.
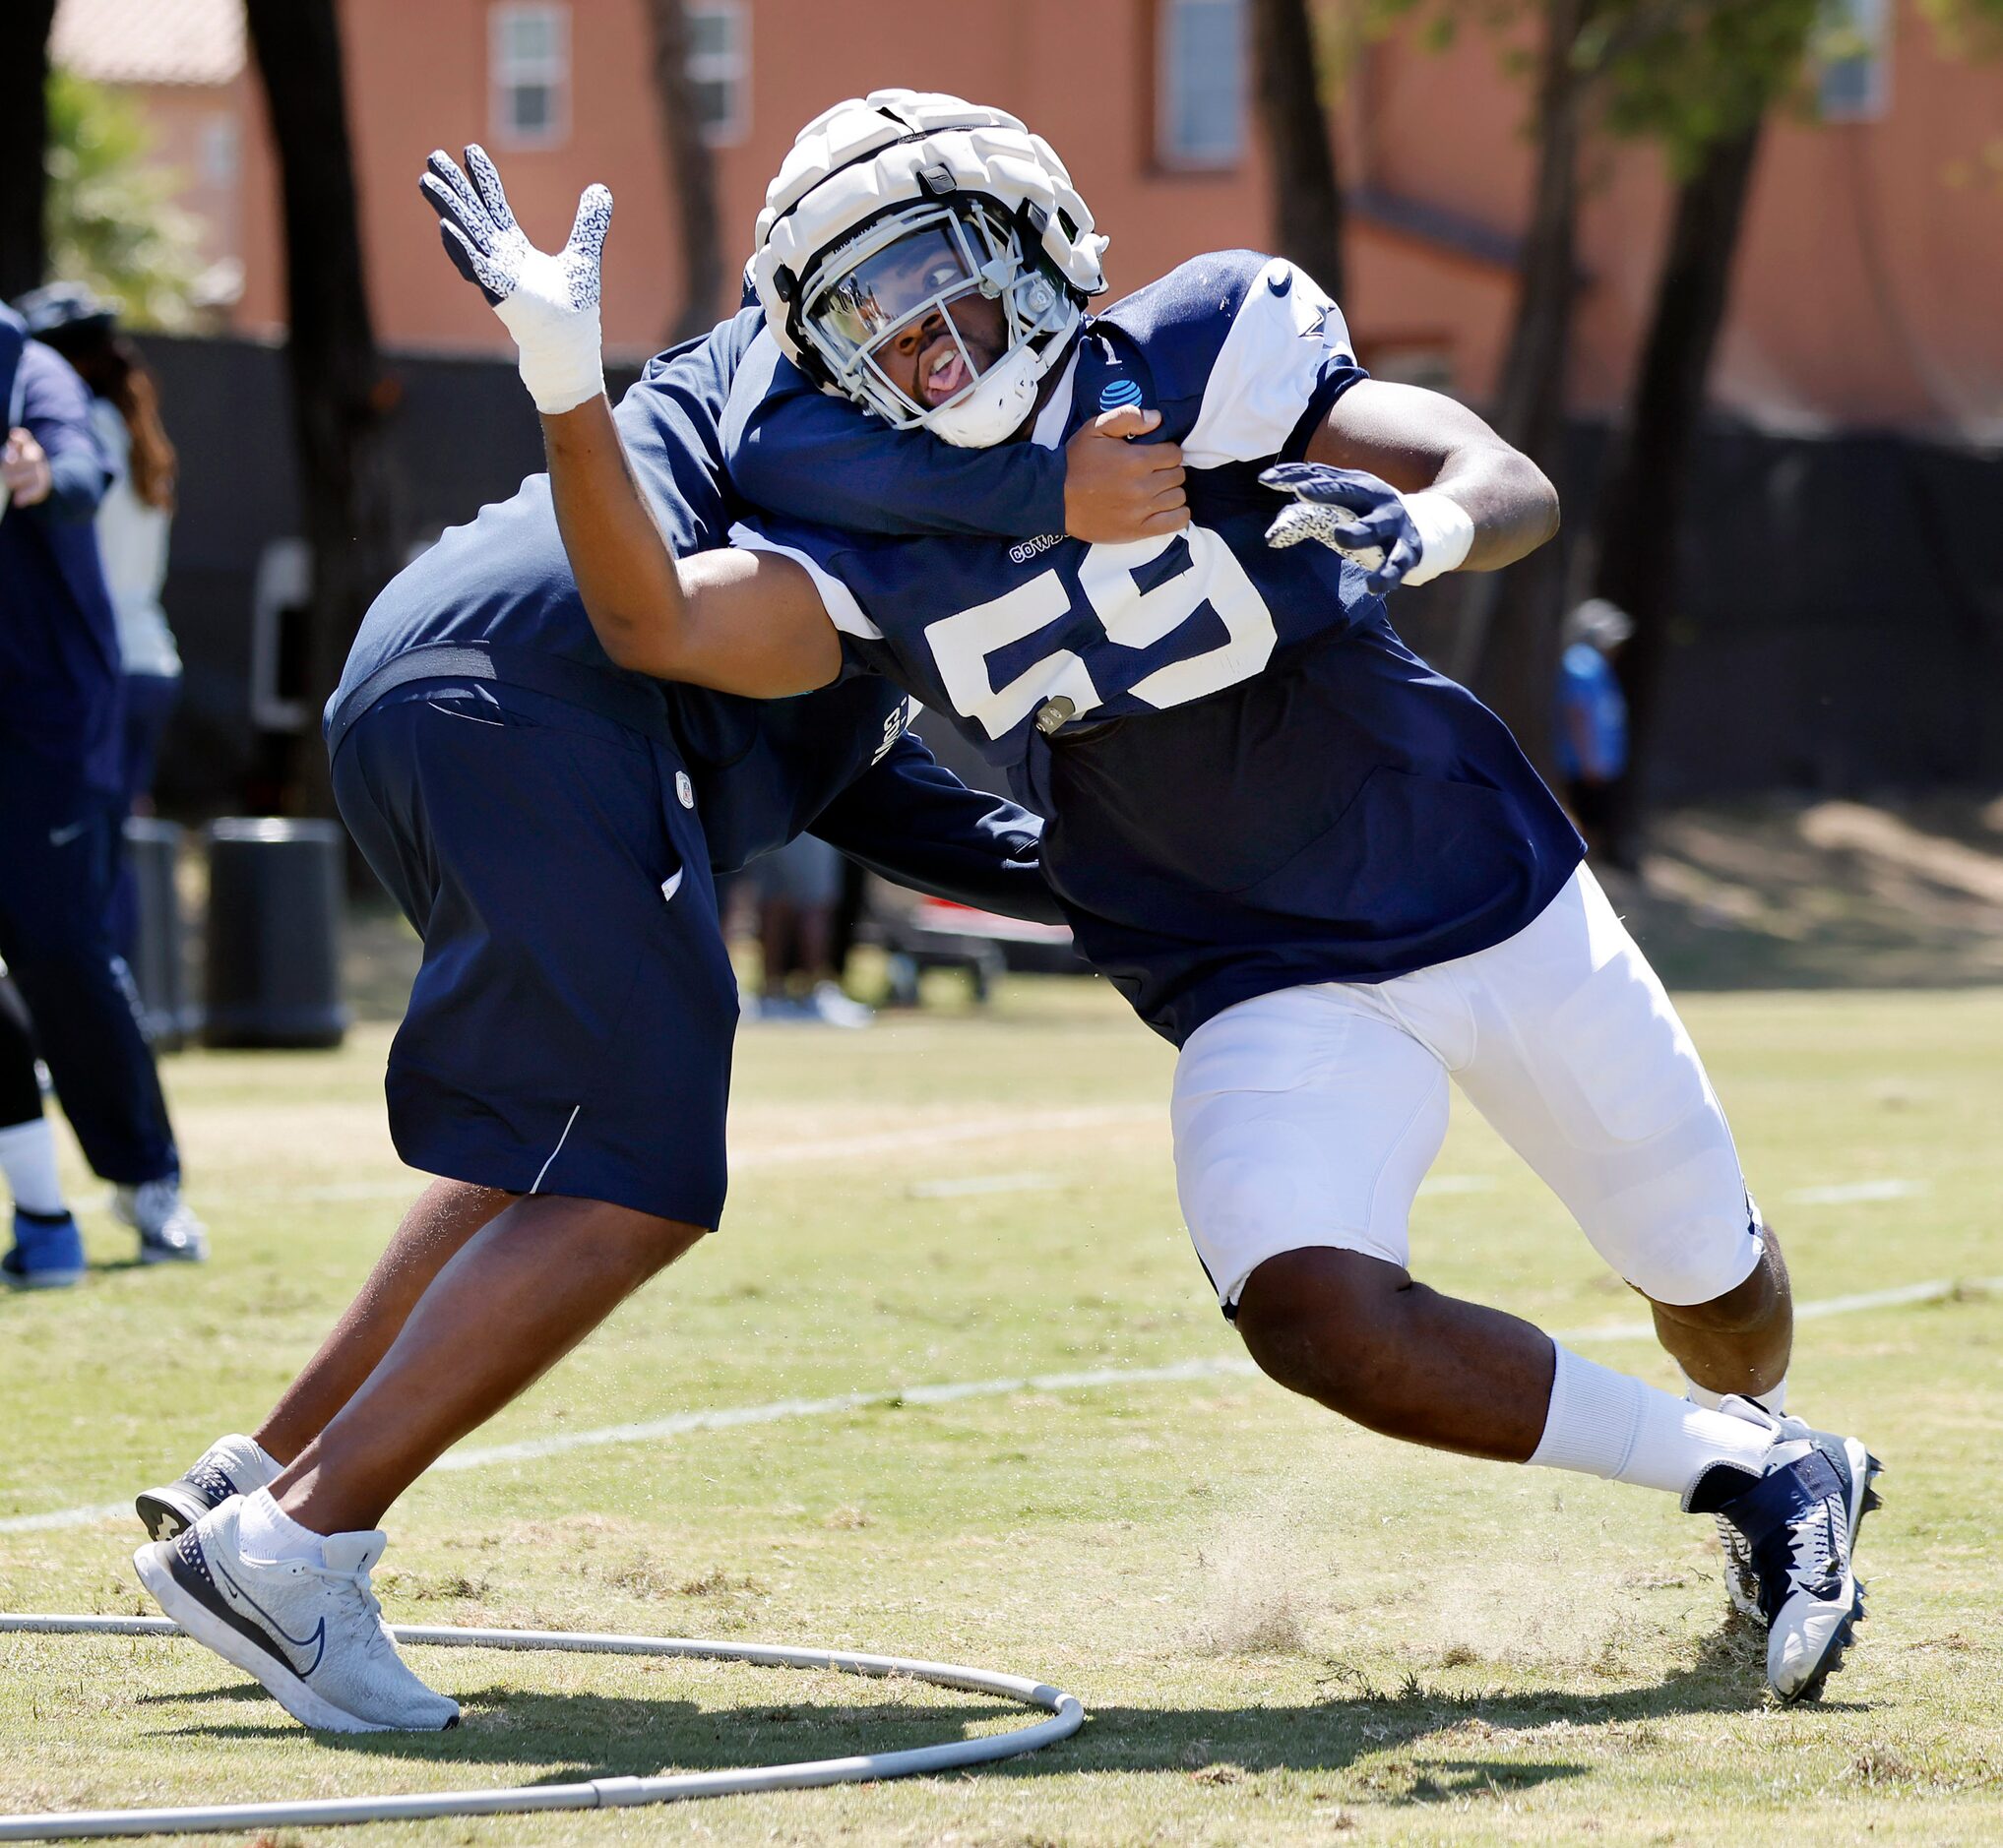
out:
<path id="1" fill-rule="evenodd" d="M 2003 1277 L 1929 1277 L 1921 1283 L 1899 1283 L 1893 1289 L 1867 1289 L 1857 1295 L 1831 1295 L 1813 1303 L 1797 1303 L 1797 1321 L 1823 1321 L 1831 1315 L 1857 1315 L 1865 1309 L 1897 1309 L 1909 1303 L 1937 1303 L 1963 1289 L 2003 1291 Z M 1648 1341 L 1654 1327 L 1646 1321 L 1602 1321 L 1596 1327 L 1552 1329 L 1554 1341 Z M 735 1432 L 745 1426 L 781 1424 L 791 1418 L 835 1418 L 843 1412 L 869 1412 L 895 1406 L 957 1406 L 963 1400 L 1006 1400 L 1032 1392 L 1098 1392 L 1120 1385 L 1168 1385 L 1182 1379 L 1244 1379 L 1258 1367 L 1244 1355 L 1224 1353 L 1206 1359 L 1184 1359 L 1166 1367 L 1094 1367 L 1084 1373 L 1024 1373 L 1008 1379 L 959 1379 L 945 1385 L 883 1385 L 875 1392 L 845 1392 L 829 1400 L 773 1400 L 767 1406 L 725 1406 L 717 1412 L 675 1412 L 669 1418 L 649 1418 L 643 1424 L 613 1424 L 585 1432 L 559 1432 L 553 1438 L 527 1438 L 519 1444 L 485 1444 L 473 1450 L 451 1450 L 433 1470 L 487 1470 L 495 1464 L 525 1464 L 537 1458 L 569 1456 L 575 1450 L 601 1450 L 609 1444 L 655 1444 L 663 1438 L 685 1438 L 693 1432 Z M 104 1502 L 94 1508 L 58 1508 L 50 1514 L 16 1514 L 0 1520 L 0 1534 L 46 1534 L 58 1528 L 90 1528 L 96 1522 L 128 1516 L 130 1502 Z"/>

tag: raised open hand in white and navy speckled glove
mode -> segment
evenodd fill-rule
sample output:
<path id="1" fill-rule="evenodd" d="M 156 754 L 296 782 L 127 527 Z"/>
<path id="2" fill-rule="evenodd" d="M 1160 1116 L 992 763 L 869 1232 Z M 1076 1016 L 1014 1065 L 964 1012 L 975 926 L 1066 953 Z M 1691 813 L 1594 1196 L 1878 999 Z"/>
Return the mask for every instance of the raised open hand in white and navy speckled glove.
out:
<path id="1" fill-rule="evenodd" d="M 599 252 L 613 196 L 587 186 L 569 242 L 551 256 L 523 236 L 485 148 L 467 148 L 465 172 L 443 148 L 425 168 L 419 186 L 439 212 L 445 254 L 515 336 L 535 408 L 557 416 L 603 392 Z"/>

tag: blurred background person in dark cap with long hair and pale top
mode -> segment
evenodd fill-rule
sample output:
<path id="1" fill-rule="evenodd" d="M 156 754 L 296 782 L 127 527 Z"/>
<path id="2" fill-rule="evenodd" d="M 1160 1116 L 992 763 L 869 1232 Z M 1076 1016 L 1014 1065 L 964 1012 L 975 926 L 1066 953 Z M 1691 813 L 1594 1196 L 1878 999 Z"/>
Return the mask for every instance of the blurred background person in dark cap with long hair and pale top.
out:
<path id="1" fill-rule="evenodd" d="M 54 346 L 90 386 L 90 426 L 114 481 L 98 503 L 98 553 L 118 619 L 124 665 L 124 815 L 152 813 L 160 735 L 180 699 L 180 651 L 160 607 L 178 458 L 160 422 L 160 392 L 138 348 L 118 332 L 118 308 L 82 282 L 50 282 L 20 300 L 34 338 Z M 138 945 L 138 881 L 120 853 L 112 941 Z"/>

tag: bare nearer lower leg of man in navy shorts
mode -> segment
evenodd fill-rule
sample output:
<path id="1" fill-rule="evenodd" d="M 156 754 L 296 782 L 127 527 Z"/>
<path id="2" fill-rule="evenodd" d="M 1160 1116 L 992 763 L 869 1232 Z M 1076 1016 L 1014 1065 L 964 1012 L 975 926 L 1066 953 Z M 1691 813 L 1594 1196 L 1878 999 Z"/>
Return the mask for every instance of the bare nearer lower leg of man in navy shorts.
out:
<path id="1" fill-rule="evenodd" d="M 597 1199 L 517 1199 L 445 1263 L 381 1365 L 272 1484 L 278 1506 L 314 1534 L 377 1526 L 701 1235 Z"/>

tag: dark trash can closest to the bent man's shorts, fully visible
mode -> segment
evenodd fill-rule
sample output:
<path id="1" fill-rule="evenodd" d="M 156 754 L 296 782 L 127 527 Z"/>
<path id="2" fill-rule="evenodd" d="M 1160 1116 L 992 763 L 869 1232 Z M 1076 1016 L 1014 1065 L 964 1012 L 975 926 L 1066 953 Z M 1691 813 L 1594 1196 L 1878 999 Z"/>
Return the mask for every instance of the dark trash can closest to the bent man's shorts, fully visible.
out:
<path id="1" fill-rule="evenodd" d="M 210 823 L 202 1043 L 341 1045 L 341 907 L 337 823 Z"/>

